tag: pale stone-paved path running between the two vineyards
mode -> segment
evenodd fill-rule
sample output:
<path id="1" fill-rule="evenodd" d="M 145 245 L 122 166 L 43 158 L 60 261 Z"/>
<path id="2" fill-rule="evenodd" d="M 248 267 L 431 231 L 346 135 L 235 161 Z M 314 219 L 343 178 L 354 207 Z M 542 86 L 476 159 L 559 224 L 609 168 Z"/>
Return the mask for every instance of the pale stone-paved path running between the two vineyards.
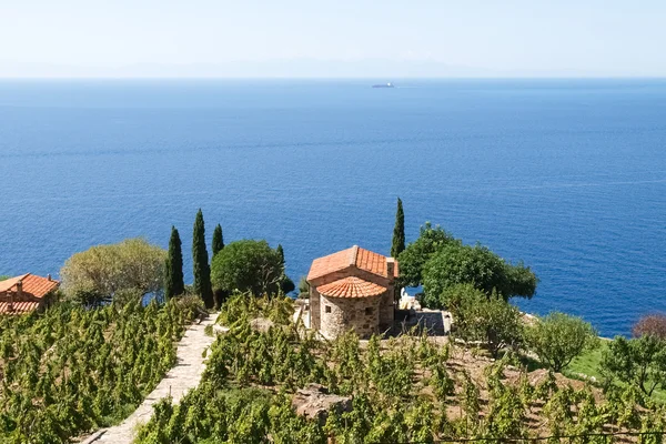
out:
<path id="1" fill-rule="evenodd" d="M 84 443 L 118 443 L 129 444 L 134 436 L 138 424 L 145 423 L 152 416 L 154 403 L 171 394 L 173 402 L 190 390 L 199 385 L 201 374 L 205 367 L 203 351 L 213 343 L 214 337 L 206 336 L 206 325 L 215 323 L 216 314 L 211 314 L 201 324 L 188 329 L 185 335 L 178 343 L 176 364 L 167 373 L 160 384 L 143 400 L 143 403 L 127 420 L 117 426 L 100 431 L 90 436 Z"/>

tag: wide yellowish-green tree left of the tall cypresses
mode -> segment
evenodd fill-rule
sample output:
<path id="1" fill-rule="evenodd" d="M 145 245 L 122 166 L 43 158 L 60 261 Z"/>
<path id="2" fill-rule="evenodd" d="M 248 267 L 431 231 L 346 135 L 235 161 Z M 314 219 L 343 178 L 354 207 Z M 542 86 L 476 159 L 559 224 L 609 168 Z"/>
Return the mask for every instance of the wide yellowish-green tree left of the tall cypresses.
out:
<path id="1" fill-rule="evenodd" d="M 97 245 L 68 259 L 60 270 L 69 299 L 85 294 L 93 304 L 111 300 L 123 290 L 141 294 L 160 292 L 164 284 L 167 252 L 144 239 Z"/>

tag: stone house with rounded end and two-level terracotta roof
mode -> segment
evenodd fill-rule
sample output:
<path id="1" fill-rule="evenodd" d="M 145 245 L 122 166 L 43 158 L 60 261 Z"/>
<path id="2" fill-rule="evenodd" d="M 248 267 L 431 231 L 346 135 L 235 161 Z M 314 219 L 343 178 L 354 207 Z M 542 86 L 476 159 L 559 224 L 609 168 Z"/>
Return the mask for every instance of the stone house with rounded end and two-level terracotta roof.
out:
<path id="1" fill-rule="evenodd" d="M 354 245 L 315 259 L 307 273 L 311 329 L 333 339 L 352 327 L 369 337 L 393 325 L 397 262 Z"/>

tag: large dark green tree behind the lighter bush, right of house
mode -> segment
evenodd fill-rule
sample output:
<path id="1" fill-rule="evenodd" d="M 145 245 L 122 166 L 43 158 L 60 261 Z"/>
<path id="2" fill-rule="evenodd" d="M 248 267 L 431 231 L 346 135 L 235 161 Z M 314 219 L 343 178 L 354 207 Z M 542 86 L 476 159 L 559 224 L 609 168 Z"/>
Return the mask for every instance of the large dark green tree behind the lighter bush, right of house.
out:
<path id="1" fill-rule="evenodd" d="M 532 297 L 537 279 L 523 264 L 512 265 L 483 245 L 444 245 L 423 268 L 424 302 L 430 307 L 443 307 L 446 287 L 472 283 L 486 295 L 496 291 L 505 300 L 511 296 Z"/>

